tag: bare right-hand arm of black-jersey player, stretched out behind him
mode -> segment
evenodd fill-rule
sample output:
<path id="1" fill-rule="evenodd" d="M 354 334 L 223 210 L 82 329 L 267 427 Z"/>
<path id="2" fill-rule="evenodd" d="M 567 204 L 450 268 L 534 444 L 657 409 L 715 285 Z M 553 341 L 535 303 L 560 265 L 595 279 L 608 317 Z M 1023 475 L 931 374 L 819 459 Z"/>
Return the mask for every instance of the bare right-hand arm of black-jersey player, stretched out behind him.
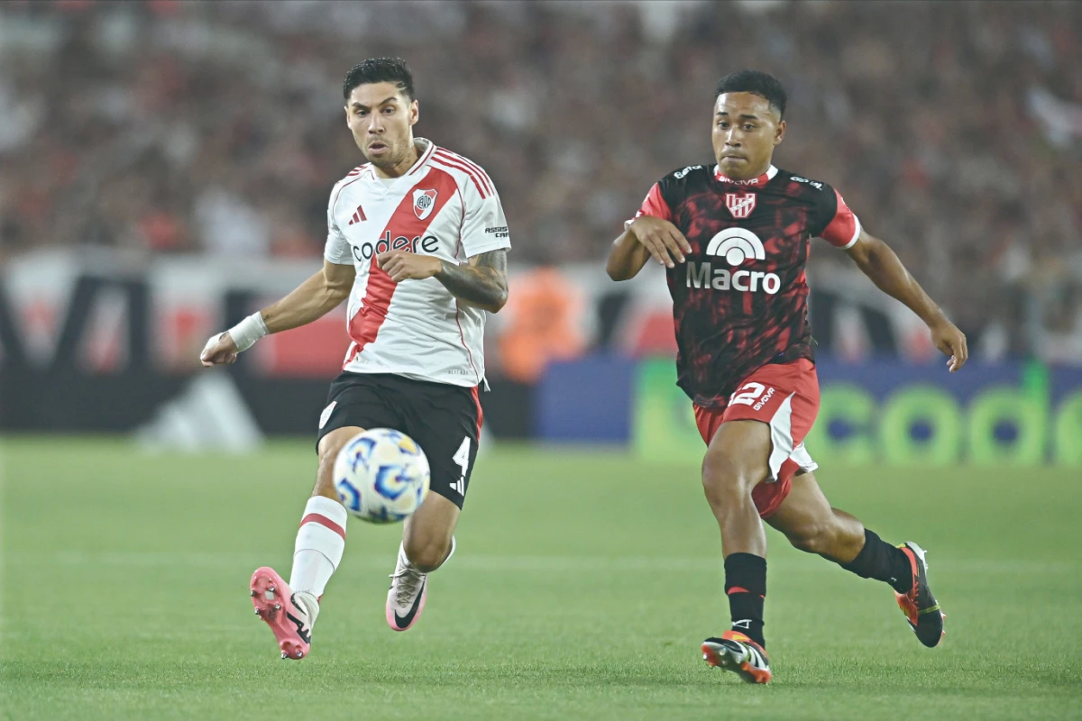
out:
<path id="1" fill-rule="evenodd" d="M 860 238 L 846 253 L 881 291 L 905 303 L 924 321 L 932 331 L 932 342 L 950 357 L 947 368 L 951 373 L 965 364 L 969 358 L 965 334 L 950 322 L 942 309 L 909 275 L 889 245 L 861 230 Z"/>

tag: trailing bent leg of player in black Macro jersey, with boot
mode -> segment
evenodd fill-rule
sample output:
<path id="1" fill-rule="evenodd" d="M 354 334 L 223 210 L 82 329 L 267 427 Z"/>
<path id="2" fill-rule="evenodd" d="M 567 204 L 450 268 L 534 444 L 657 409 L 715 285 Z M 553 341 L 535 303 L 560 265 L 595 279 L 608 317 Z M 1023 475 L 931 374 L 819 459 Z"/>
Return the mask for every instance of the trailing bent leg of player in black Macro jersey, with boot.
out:
<path id="1" fill-rule="evenodd" d="M 793 479 L 791 492 L 767 523 L 796 548 L 889 585 L 921 643 L 929 647 L 939 643 L 945 616 L 928 586 L 927 561 L 920 546 L 912 542 L 892 546 L 853 516 L 831 508 L 810 472 Z"/>

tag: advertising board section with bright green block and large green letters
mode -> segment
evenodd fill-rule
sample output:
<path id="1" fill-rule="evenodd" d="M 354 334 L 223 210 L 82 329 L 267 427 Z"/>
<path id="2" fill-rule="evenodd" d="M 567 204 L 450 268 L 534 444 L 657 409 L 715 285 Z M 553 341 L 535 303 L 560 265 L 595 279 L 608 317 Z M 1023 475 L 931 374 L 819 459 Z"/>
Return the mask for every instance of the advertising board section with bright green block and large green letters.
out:
<path id="1" fill-rule="evenodd" d="M 1082 370 L 1038 363 L 817 363 L 819 417 L 806 444 L 820 463 L 1082 466 Z M 702 441 L 670 360 L 644 361 L 633 442 L 644 459 L 697 458 Z"/>

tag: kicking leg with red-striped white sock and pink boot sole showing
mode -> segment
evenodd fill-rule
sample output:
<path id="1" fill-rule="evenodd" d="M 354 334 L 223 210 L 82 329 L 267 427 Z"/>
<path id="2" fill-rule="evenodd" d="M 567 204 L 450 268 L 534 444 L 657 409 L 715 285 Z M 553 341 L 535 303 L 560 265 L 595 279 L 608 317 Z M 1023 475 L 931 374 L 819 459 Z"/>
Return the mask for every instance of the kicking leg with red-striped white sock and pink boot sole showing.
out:
<path id="1" fill-rule="evenodd" d="M 296 533 L 289 583 L 268 566 L 252 574 L 250 590 L 255 613 L 274 631 L 282 658 L 308 655 L 319 599 L 342 561 L 347 513 L 334 490 L 334 458 L 360 431 L 353 426 L 337 428 L 319 440 L 316 485 Z"/>

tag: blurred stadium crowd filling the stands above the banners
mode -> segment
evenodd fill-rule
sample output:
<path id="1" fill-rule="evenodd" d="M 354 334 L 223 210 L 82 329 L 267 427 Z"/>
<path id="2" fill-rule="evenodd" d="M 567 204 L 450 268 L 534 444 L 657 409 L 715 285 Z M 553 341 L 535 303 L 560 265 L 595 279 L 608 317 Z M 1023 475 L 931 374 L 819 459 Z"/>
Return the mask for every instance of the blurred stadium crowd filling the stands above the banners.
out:
<path id="1" fill-rule="evenodd" d="M 1082 362 L 1080 37 L 1073 2 L 15 0 L 0 259 L 318 257 L 358 162 L 342 77 L 394 54 L 418 134 L 494 178 L 514 261 L 596 262 L 655 179 L 710 160 L 714 83 L 753 66 L 790 92 L 779 165 L 835 185 L 968 333 Z"/>

